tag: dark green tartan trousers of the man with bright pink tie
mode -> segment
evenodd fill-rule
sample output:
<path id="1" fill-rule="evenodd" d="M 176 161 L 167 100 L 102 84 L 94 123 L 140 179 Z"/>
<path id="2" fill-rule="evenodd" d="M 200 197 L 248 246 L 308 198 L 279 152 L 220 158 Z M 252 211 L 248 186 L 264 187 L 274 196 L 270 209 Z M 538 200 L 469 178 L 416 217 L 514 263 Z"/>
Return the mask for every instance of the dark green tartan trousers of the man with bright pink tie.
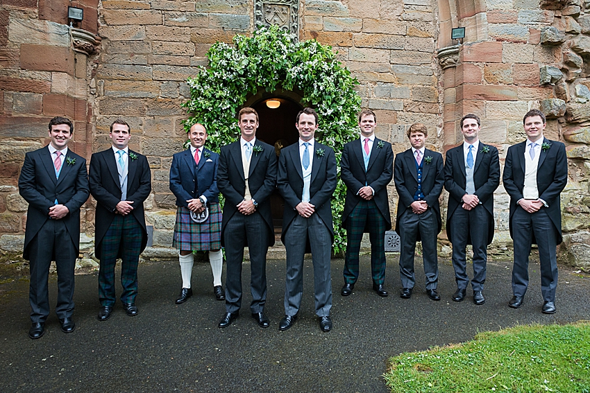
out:
<path id="1" fill-rule="evenodd" d="M 365 227 L 371 241 L 371 277 L 373 283 L 385 282 L 385 218 L 381 216 L 374 200 L 360 201 L 346 220 L 346 254 L 344 283 L 355 283 L 359 275 L 359 252 Z"/>

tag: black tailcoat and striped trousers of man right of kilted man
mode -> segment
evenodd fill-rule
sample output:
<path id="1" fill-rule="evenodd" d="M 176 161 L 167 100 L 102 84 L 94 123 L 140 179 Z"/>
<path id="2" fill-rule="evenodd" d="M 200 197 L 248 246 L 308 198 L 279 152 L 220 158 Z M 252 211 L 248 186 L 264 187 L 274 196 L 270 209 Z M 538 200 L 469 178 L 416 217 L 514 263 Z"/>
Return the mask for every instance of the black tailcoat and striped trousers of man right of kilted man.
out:
<path id="1" fill-rule="evenodd" d="M 241 140 L 241 139 L 240 139 Z M 245 216 L 237 209 L 244 200 L 246 180 L 239 141 L 221 148 L 217 187 L 224 194 L 221 245 L 226 248 L 226 311 L 236 313 L 242 306 L 242 261 L 244 247 L 250 252 L 252 313 L 262 313 L 267 301 L 267 251 L 274 245 L 270 195 L 276 188 L 276 154 L 273 146 L 256 139 L 262 151 L 252 152 L 248 189 L 258 202 L 254 213 Z"/>

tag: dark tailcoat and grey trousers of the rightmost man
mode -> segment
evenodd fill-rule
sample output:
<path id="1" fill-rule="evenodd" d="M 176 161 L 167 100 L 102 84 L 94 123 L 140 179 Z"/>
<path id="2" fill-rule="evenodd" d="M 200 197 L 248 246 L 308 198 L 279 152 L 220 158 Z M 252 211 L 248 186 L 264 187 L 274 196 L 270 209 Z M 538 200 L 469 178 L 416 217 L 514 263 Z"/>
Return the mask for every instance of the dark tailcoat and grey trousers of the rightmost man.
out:
<path id="1" fill-rule="evenodd" d="M 523 198 L 526 141 L 508 148 L 504 166 L 504 188 L 510 195 L 510 236 L 514 241 L 512 292 L 523 297 L 528 287 L 531 245 L 539 246 L 541 293 L 545 302 L 555 302 L 557 288 L 557 245 L 562 243 L 562 213 L 559 195 L 568 179 L 568 162 L 563 143 L 543 138 L 550 148 L 541 148 L 537 165 L 539 199 L 546 202 L 535 213 L 516 204 Z"/>

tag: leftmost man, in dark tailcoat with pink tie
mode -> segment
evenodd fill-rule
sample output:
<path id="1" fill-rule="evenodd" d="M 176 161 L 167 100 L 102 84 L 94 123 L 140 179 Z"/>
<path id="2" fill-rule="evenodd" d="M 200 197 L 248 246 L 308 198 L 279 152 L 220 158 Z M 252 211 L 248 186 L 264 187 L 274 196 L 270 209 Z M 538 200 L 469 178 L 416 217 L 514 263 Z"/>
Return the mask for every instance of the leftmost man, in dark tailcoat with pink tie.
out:
<path id="1" fill-rule="evenodd" d="M 80 245 L 80 207 L 88 199 L 86 160 L 67 148 L 74 125 L 65 117 L 49 121 L 48 146 L 26 153 L 19 176 L 19 193 L 28 202 L 23 258 L 29 261 L 33 340 L 45 332 L 49 315 L 49 266 L 56 261 L 56 314 L 64 333 L 76 328 L 74 267 Z"/>

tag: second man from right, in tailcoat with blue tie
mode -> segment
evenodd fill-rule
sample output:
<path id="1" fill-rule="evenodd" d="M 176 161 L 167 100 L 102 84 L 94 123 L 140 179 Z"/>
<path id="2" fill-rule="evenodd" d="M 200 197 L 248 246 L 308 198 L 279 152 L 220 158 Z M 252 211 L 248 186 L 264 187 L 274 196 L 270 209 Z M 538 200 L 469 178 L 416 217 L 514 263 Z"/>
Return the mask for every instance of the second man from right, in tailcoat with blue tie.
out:
<path id="1" fill-rule="evenodd" d="M 446 152 L 444 188 L 448 191 L 446 234 L 453 244 L 453 268 L 457 290 L 455 302 L 465 298 L 468 244 L 473 245 L 473 303 L 484 304 L 487 245 L 494 238 L 494 191 L 500 184 L 498 149 L 480 142 L 480 118 L 466 114 L 461 119 L 464 142 Z"/>

